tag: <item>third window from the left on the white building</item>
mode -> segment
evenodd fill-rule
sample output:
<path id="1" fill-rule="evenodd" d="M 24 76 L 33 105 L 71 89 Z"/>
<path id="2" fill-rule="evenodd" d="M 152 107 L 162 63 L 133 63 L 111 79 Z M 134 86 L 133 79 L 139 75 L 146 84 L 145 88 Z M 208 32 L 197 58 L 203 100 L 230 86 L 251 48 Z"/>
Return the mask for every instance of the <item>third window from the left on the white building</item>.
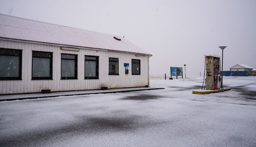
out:
<path id="1" fill-rule="evenodd" d="M 61 79 L 77 79 L 77 55 L 61 54 Z"/>

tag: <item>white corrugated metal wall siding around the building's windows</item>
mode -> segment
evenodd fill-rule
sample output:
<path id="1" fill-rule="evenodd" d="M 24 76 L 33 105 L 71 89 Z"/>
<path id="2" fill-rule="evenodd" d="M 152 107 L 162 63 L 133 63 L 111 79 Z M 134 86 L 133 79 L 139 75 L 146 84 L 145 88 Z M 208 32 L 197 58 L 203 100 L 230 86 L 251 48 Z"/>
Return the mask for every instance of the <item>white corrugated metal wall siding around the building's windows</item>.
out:
<path id="1" fill-rule="evenodd" d="M 148 56 L 136 57 L 135 54 L 80 49 L 79 52 L 60 50 L 59 46 L 0 40 L 0 47 L 23 50 L 22 80 L 1 80 L 0 93 L 141 87 L 148 82 Z M 53 80 L 31 80 L 32 51 L 53 52 Z M 60 80 L 61 53 L 78 55 L 78 80 Z M 84 55 L 99 56 L 99 80 L 84 80 Z M 109 57 L 119 59 L 119 76 L 109 75 Z M 141 75 L 132 75 L 132 59 L 140 59 Z M 125 75 L 123 63 L 129 63 L 129 75 Z"/>

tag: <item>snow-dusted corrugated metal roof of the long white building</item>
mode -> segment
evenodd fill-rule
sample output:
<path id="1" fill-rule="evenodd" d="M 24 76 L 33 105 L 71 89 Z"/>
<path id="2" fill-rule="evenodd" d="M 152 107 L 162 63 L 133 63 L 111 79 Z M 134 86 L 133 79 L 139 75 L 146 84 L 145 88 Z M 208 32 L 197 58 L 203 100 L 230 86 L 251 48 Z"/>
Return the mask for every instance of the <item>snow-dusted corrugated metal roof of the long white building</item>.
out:
<path id="1" fill-rule="evenodd" d="M 146 54 L 123 37 L 0 14 L 0 37 Z M 121 41 L 114 39 L 121 38 Z"/>

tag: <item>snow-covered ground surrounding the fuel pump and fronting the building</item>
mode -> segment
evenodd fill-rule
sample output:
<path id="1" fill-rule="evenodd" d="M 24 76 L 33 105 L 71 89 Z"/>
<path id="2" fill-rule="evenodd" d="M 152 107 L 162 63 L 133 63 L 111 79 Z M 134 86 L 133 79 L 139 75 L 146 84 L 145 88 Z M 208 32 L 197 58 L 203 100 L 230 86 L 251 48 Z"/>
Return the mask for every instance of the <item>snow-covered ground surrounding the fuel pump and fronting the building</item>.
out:
<path id="1" fill-rule="evenodd" d="M 0 146 L 256 146 L 256 77 L 192 94 L 203 78 L 126 93 L 0 102 Z"/>

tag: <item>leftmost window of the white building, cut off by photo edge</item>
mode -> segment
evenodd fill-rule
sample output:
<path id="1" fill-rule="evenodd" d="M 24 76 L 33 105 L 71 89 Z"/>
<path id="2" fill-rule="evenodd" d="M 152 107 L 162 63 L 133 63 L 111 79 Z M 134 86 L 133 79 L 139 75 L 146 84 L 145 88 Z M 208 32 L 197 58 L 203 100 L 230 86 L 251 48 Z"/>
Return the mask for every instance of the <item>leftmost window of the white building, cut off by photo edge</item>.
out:
<path id="1" fill-rule="evenodd" d="M 22 50 L 0 48 L 0 80 L 22 80 Z"/>

